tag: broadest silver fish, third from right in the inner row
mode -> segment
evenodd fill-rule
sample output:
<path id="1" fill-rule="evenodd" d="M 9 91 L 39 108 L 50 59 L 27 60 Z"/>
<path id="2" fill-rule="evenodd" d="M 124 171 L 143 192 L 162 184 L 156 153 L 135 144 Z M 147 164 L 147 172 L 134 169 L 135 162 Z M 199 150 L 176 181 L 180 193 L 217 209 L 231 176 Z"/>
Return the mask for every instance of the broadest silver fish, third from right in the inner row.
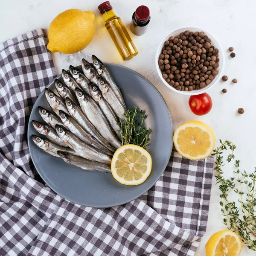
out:
<path id="1" fill-rule="evenodd" d="M 82 111 L 90 120 L 90 122 L 95 126 L 105 140 L 108 141 L 115 148 L 119 148 L 122 144 L 116 138 L 113 133 L 111 125 L 106 119 L 105 115 L 102 113 L 99 105 L 89 96 L 87 96 L 82 90 L 76 88 L 76 97 L 79 101 Z"/>

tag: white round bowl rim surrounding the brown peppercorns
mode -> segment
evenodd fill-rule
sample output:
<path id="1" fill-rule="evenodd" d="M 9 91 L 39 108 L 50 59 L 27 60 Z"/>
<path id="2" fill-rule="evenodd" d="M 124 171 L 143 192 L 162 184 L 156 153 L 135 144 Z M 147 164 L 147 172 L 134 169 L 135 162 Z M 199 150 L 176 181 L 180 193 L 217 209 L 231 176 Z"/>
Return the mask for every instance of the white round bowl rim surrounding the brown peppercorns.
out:
<path id="1" fill-rule="evenodd" d="M 180 90 L 176 90 L 174 87 L 172 87 L 171 85 L 169 85 L 165 79 L 163 79 L 161 70 L 159 68 L 158 65 L 158 60 L 159 60 L 159 55 L 161 53 L 161 50 L 163 48 L 163 44 L 164 42 L 170 37 L 170 36 L 177 36 L 180 35 L 181 32 L 185 32 L 186 30 L 188 30 L 189 32 L 200 32 L 203 31 L 205 33 L 205 35 L 207 35 L 210 39 L 211 39 L 211 44 L 215 47 L 218 48 L 219 52 L 218 52 L 218 58 L 219 58 L 219 67 L 218 67 L 218 75 L 215 76 L 215 78 L 212 80 L 212 82 L 210 84 L 208 84 L 206 87 L 202 88 L 202 89 L 198 89 L 198 90 L 192 90 L 191 92 L 189 91 L 180 91 Z M 218 80 L 221 78 L 222 73 L 223 73 L 223 69 L 224 69 L 224 64 L 225 64 L 225 60 L 224 60 L 224 52 L 223 49 L 221 47 L 221 44 L 219 43 L 218 39 L 215 38 L 214 35 L 212 35 L 212 33 L 208 32 L 206 29 L 202 29 L 202 28 L 198 28 L 198 27 L 185 27 L 185 28 L 180 28 L 180 29 L 175 29 L 172 32 L 169 32 L 161 41 L 161 43 L 159 44 L 158 48 L 157 48 L 157 53 L 156 53 L 156 59 L 155 59 L 155 63 L 156 63 L 156 68 L 157 68 L 157 74 L 160 77 L 160 79 L 163 81 L 163 83 L 170 88 L 171 90 L 175 91 L 176 93 L 180 93 L 180 94 L 185 94 L 185 95 L 198 95 L 201 93 L 205 93 L 207 90 L 209 90 L 210 88 L 212 88 L 217 82 Z"/>

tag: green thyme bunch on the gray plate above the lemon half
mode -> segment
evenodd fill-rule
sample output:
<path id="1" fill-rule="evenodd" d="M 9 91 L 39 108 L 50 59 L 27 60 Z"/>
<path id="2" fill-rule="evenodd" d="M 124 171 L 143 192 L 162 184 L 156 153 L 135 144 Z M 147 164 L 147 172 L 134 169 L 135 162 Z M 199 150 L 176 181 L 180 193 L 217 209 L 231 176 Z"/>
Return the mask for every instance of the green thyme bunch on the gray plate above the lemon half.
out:
<path id="1" fill-rule="evenodd" d="M 143 122 L 148 115 L 144 115 L 144 111 L 134 106 L 125 112 L 125 120 L 119 119 L 119 127 L 121 128 L 122 145 L 134 144 L 142 148 L 146 148 L 149 143 L 149 134 L 151 128 L 143 127 Z M 139 117 L 140 121 L 137 121 Z"/>

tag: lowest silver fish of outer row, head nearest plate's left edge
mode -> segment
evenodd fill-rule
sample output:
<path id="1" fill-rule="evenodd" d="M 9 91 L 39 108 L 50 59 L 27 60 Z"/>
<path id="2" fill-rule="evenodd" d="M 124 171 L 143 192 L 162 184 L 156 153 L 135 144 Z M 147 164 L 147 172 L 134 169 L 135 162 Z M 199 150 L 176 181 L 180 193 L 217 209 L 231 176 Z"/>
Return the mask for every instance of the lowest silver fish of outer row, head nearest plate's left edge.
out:
<path id="1" fill-rule="evenodd" d="M 71 149 L 69 147 L 60 146 L 56 143 L 53 143 L 52 141 L 50 141 L 48 139 L 44 139 L 37 135 L 32 135 L 31 137 L 32 137 L 32 140 L 35 143 L 35 145 L 37 145 L 39 148 L 43 149 L 45 152 L 47 152 L 55 157 L 59 157 L 59 155 L 57 154 L 57 151 L 63 151 L 63 152 L 67 152 L 67 153 L 79 156 L 79 154 L 77 154 L 73 149 Z"/>

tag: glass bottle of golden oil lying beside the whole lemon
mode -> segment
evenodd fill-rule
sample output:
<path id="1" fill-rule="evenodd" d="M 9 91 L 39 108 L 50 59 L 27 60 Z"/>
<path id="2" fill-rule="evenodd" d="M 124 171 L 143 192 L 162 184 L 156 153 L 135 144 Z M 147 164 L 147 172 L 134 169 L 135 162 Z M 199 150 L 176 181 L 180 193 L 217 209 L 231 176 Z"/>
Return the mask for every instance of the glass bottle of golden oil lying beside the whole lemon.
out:
<path id="1" fill-rule="evenodd" d="M 98 9 L 105 19 L 105 27 L 122 56 L 122 59 L 126 61 L 136 56 L 138 51 L 122 23 L 122 20 L 113 12 L 109 1 L 100 4 Z"/>

